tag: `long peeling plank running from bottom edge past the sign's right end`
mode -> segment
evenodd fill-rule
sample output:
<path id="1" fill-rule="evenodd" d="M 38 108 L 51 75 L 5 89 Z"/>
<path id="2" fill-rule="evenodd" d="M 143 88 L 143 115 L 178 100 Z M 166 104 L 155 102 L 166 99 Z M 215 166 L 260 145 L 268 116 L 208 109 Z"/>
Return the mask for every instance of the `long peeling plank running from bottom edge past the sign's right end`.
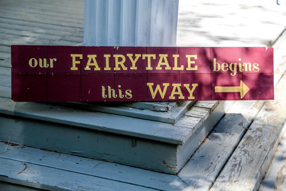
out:
<path id="1" fill-rule="evenodd" d="M 281 138 L 286 120 L 286 75 L 276 86 L 275 100 L 266 101 L 211 191 L 257 190 Z M 277 110 L 279 108 L 279 110 Z"/>

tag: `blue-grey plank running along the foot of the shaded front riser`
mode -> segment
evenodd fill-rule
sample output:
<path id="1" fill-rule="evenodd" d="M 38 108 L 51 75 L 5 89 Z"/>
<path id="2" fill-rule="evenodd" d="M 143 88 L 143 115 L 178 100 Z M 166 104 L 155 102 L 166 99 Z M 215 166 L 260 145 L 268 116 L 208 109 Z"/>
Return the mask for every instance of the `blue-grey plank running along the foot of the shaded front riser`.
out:
<path id="1" fill-rule="evenodd" d="M 0 143 L 1 151 L 5 150 L 6 147 L 7 144 Z M 74 155 L 23 147 L 22 145 L 9 145 L 7 148 L 9 150 L 1 153 L 0 158 L 77 172 L 153 189 L 158 189 L 159 185 L 161 185 L 160 190 L 166 191 L 181 190 L 181 187 L 187 187 L 187 184 L 176 175 L 143 170 L 107 161 L 79 158 Z"/>

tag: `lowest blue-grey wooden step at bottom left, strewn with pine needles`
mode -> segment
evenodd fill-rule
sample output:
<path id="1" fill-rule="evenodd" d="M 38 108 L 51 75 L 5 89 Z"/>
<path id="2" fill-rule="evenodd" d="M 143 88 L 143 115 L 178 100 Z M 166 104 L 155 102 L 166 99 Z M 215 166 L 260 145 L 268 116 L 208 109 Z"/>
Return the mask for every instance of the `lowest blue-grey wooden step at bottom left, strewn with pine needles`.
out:
<path id="1" fill-rule="evenodd" d="M 179 191 L 188 187 L 176 175 L 107 161 L 1 142 L 0 150 L 4 151 L 0 154 L 0 181 L 43 190 Z"/>

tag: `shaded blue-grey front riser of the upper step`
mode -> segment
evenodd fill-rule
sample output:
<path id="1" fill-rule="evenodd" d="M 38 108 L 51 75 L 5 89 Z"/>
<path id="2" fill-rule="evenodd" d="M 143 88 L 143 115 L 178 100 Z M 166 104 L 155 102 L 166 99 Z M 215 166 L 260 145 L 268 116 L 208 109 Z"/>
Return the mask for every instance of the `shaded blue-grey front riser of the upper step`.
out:
<path id="1" fill-rule="evenodd" d="M 2 115 L 0 140 L 9 138 L 10 143 L 176 173 L 175 144 Z"/>

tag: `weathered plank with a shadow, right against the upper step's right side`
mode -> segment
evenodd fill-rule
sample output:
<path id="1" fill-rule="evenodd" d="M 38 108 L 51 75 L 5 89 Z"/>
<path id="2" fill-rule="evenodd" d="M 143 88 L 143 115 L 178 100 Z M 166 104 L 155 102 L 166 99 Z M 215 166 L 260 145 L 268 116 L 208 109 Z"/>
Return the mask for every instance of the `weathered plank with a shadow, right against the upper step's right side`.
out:
<path id="1" fill-rule="evenodd" d="M 243 127 L 247 125 L 248 121 L 242 115 L 226 114 L 178 177 L 193 190 L 208 190 L 243 136 Z"/>

